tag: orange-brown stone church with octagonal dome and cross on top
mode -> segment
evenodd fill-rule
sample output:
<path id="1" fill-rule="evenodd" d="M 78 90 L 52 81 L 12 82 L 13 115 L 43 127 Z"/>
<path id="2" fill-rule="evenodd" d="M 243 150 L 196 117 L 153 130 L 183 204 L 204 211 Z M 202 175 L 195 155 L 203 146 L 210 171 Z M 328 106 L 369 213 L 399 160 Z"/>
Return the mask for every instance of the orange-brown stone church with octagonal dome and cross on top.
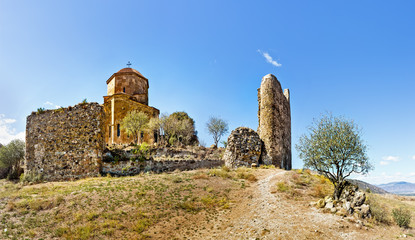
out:
<path id="1" fill-rule="evenodd" d="M 148 106 L 148 79 L 139 71 L 123 68 L 107 80 L 107 96 L 104 96 L 105 143 L 129 144 L 132 136 L 121 130 L 121 122 L 130 111 L 141 111 L 149 118 L 158 118 L 160 111 Z M 157 134 L 141 133 L 141 141 L 149 144 L 157 141 Z"/>

